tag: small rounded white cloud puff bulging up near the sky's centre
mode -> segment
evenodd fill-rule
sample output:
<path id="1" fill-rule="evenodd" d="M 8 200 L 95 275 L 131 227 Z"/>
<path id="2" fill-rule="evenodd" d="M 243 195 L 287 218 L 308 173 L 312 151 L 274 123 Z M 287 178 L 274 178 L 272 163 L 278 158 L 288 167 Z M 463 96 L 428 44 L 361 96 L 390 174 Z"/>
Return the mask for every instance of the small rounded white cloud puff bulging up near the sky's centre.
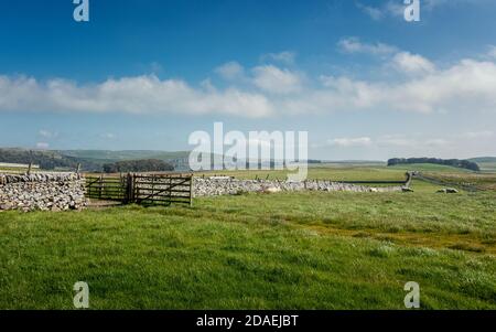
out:
<path id="1" fill-rule="evenodd" d="M 267 65 L 255 67 L 252 73 L 254 84 L 268 93 L 291 94 L 302 88 L 300 75 L 288 69 Z"/>

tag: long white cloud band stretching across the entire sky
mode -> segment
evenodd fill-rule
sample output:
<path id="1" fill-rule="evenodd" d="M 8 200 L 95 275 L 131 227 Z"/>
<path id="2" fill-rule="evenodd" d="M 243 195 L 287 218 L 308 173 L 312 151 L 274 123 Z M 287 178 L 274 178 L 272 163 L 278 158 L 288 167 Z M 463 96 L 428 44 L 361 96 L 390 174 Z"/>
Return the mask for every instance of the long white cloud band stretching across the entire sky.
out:
<path id="1" fill-rule="evenodd" d="M 420 55 L 393 56 L 401 79 L 355 79 L 304 73 L 273 65 L 257 66 L 240 82 L 219 89 L 209 79 L 193 87 L 181 79 L 154 75 L 77 84 L 66 79 L 37 82 L 0 75 L 0 111 L 58 111 L 269 117 L 336 111 L 495 113 L 496 63 L 462 60 L 445 68 Z M 311 84 L 309 84 L 309 82 Z M 42 136 L 42 137 L 46 137 Z"/>

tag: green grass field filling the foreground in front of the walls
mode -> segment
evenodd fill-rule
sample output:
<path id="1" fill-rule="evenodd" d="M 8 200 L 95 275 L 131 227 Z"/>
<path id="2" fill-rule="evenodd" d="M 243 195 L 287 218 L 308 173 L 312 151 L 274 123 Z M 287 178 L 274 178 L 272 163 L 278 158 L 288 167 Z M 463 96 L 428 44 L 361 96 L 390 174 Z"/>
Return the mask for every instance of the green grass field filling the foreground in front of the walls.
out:
<path id="1" fill-rule="evenodd" d="M 370 171 L 374 173 L 374 171 Z M 280 193 L 0 213 L 0 308 L 496 309 L 496 193 Z"/>

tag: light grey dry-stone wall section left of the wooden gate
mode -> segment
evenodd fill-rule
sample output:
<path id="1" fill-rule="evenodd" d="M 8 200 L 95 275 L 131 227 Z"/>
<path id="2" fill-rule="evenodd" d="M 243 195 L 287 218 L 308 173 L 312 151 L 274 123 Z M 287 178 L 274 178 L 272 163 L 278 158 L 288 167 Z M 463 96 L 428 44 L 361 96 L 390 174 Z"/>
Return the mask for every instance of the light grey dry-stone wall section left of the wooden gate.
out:
<path id="1" fill-rule="evenodd" d="M 86 205 L 85 180 L 79 174 L 0 174 L 0 211 L 65 211 Z"/>

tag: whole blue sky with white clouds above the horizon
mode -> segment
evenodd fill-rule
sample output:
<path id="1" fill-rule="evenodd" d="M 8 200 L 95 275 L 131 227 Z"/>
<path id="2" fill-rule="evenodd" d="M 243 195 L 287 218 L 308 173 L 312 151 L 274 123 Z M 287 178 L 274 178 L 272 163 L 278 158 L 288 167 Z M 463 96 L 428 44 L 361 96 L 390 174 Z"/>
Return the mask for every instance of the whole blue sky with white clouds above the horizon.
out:
<path id="1" fill-rule="evenodd" d="M 0 144 L 184 150 L 308 130 L 311 158 L 496 156 L 496 2 L 0 0 Z"/>

